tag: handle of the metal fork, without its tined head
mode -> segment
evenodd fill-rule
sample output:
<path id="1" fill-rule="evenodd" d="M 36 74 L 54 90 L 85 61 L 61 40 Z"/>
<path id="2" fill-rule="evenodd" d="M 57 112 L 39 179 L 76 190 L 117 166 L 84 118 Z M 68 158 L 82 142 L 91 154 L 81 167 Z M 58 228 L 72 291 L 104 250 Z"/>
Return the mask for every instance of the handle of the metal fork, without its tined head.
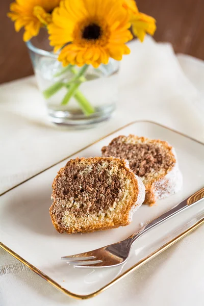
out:
<path id="1" fill-rule="evenodd" d="M 140 228 L 140 230 L 137 233 L 134 233 L 128 239 L 130 239 L 130 242 L 132 244 L 137 238 L 139 238 L 141 235 L 143 235 L 144 233 L 149 231 L 151 228 L 157 226 L 158 224 L 161 224 L 162 222 L 164 222 L 167 219 L 170 219 L 171 217 L 173 217 L 177 213 L 187 209 L 190 205 L 193 205 L 193 204 L 197 203 L 202 198 L 204 198 L 204 187 L 202 189 L 198 190 L 197 192 L 195 192 L 194 194 L 192 194 L 187 199 L 180 202 L 178 205 L 174 206 L 172 209 L 170 209 L 166 213 L 162 214 L 160 217 L 158 217 L 158 218 L 152 220 L 151 222 L 147 223 L 146 225 L 144 225 L 142 228 Z"/>

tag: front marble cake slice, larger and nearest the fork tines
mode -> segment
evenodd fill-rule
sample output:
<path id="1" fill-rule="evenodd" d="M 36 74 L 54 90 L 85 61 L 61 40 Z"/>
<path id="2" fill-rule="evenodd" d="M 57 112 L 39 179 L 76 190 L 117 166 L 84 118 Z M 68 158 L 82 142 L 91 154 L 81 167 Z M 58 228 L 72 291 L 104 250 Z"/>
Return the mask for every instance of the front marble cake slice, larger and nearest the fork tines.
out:
<path id="1" fill-rule="evenodd" d="M 107 230 L 129 224 L 144 196 L 144 185 L 126 160 L 77 158 L 58 172 L 49 212 L 59 233 Z"/>

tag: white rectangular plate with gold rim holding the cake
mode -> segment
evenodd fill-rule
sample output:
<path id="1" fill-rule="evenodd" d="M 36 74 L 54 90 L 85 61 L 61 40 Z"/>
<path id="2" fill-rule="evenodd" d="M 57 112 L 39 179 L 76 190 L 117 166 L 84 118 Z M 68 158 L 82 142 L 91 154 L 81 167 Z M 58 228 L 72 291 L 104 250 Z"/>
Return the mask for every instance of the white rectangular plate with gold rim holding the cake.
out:
<path id="1" fill-rule="evenodd" d="M 156 206 L 143 205 L 129 226 L 89 234 L 59 234 L 49 217 L 52 182 L 67 160 L 100 156 L 100 149 L 119 135 L 136 134 L 168 141 L 175 147 L 184 177 L 182 190 Z M 40 274 L 49 283 L 77 298 L 88 298 L 107 289 L 122 277 L 204 223 L 203 200 L 142 236 L 133 246 L 127 263 L 105 269 L 77 269 L 62 256 L 81 253 L 118 242 L 136 232 L 188 197 L 204 183 L 204 145 L 154 122 L 137 121 L 82 149 L 75 155 L 23 182 L 0 198 L 0 247 Z"/>

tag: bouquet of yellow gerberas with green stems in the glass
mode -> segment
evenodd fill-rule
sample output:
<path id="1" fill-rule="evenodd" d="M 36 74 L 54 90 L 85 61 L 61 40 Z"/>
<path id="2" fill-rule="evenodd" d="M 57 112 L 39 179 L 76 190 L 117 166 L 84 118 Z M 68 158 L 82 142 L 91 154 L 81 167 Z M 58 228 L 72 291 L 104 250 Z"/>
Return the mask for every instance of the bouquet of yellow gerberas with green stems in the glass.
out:
<path id="1" fill-rule="evenodd" d="M 63 88 L 61 106 L 74 98 L 86 116 L 96 112 L 79 90 L 91 79 L 88 71 L 98 72 L 110 60 L 121 61 L 130 54 L 126 43 L 133 39 L 132 33 L 142 42 L 146 33 L 153 35 L 156 30 L 156 20 L 140 13 L 134 0 L 16 0 L 8 16 L 16 31 L 24 28 L 26 42 L 44 28 L 62 63 L 53 73 L 54 82 L 43 89 L 45 99 Z"/>

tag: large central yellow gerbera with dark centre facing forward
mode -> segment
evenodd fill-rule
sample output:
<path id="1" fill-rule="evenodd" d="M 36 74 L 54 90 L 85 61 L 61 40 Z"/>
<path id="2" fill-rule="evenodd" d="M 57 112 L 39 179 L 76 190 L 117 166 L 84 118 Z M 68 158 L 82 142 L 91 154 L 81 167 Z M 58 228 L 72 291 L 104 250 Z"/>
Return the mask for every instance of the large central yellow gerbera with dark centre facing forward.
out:
<path id="1" fill-rule="evenodd" d="M 129 14 L 121 0 L 64 0 L 48 25 L 50 45 L 62 48 L 59 61 L 83 66 L 107 64 L 129 54 L 125 43 L 132 39 Z"/>

